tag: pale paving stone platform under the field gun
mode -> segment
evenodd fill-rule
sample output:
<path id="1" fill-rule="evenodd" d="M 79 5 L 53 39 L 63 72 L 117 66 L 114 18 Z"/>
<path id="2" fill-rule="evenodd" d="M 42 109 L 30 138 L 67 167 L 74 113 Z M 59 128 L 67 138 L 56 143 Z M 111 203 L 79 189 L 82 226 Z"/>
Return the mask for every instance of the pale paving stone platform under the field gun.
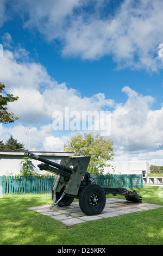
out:
<path id="1" fill-rule="evenodd" d="M 30 207 L 28 209 L 39 212 L 42 215 L 49 216 L 58 220 L 67 226 L 83 223 L 86 221 L 94 221 L 102 218 L 119 216 L 122 214 L 130 214 L 131 212 L 151 210 L 156 208 L 163 208 L 163 205 L 148 204 L 148 203 L 132 203 L 125 199 L 118 198 L 106 198 L 106 205 L 101 214 L 87 216 L 82 210 L 80 210 L 79 203 L 73 202 L 71 205 L 66 207 L 54 206 L 53 209 L 49 209 L 49 205 L 41 205 L 36 207 Z"/>

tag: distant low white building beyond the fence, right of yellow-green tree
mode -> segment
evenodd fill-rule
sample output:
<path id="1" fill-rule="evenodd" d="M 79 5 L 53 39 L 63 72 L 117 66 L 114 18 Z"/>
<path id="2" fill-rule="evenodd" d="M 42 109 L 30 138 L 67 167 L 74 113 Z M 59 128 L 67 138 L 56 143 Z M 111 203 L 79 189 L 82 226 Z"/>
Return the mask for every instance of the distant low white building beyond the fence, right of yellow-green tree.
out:
<path id="1" fill-rule="evenodd" d="M 104 168 L 104 174 L 142 174 L 150 173 L 148 161 L 108 162 L 109 167 Z"/>

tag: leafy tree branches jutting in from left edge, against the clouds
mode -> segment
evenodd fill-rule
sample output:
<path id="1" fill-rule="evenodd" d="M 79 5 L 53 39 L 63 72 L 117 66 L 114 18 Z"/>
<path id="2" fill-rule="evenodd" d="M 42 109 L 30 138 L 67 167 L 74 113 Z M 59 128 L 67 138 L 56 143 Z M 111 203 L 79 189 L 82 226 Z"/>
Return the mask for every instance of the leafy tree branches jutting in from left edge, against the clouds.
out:
<path id="1" fill-rule="evenodd" d="M 5 85 L 0 83 L 0 94 L 4 94 Z M 8 102 L 14 102 L 18 100 L 18 97 L 14 97 L 12 94 L 7 94 L 7 96 L 0 95 L 0 123 L 14 123 L 17 120 L 17 117 L 14 117 L 14 114 L 7 112 Z"/>

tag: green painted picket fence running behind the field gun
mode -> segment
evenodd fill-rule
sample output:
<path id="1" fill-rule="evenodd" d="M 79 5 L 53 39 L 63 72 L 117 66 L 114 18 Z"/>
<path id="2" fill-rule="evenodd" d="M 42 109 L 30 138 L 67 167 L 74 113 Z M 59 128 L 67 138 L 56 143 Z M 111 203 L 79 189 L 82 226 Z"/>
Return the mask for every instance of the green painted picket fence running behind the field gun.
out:
<path id="1" fill-rule="evenodd" d="M 0 176 L 0 193 L 51 193 L 54 176 Z M 109 187 L 143 187 L 142 175 L 97 175 L 97 184 Z"/>

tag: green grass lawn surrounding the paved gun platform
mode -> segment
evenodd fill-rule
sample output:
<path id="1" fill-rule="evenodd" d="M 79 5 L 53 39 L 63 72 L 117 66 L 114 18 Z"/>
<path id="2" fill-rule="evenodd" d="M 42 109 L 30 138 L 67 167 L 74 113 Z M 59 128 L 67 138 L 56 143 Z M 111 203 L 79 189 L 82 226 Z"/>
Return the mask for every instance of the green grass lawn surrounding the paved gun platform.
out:
<path id="1" fill-rule="evenodd" d="M 136 189 L 143 202 L 163 205 L 163 188 Z M 112 197 L 112 195 L 106 196 Z M 123 198 L 122 196 L 117 196 Z M 77 200 L 77 199 L 76 199 Z M 27 207 L 52 204 L 51 194 L 0 198 L 0 245 L 162 245 L 163 208 L 67 227 Z"/>

